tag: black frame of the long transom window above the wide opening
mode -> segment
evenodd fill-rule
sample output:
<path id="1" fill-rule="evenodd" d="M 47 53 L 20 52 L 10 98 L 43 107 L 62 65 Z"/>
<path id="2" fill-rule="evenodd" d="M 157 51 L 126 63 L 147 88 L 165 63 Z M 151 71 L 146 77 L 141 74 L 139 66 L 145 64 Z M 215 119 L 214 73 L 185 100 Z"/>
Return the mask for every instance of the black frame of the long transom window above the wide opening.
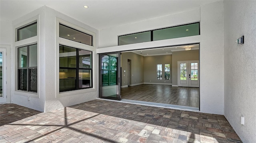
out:
<path id="1" fill-rule="evenodd" d="M 159 29 L 154 29 L 154 30 L 147 30 L 147 31 L 141 31 L 141 32 L 136 32 L 136 33 L 130 33 L 130 34 L 125 34 L 125 35 L 119 35 L 118 36 L 118 46 L 120 46 L 120 37 L 122 36 L 127 36 L 127 35 L 132 35 L 132 34 L 138 34 L 138 33 L 144 33 L 144 32 L 151 32 L 150 34 L 150 39 L 151 41 L 154 41 L 154 31 L 156 30 L 160 30 L 160 29 L 168 29 L 168 28 L 172 28 L 172 27 L 180 27 L 180 26 L 185 26 L 185 25 L 191 25 L 191 24 L 198 24 L 198 35 L 200 35 L 200 22 L 194 22 L 194 23 L 190 23 L 190 24 L 182 24 L 182 25 L 176 25 L 176 26 L 170 26 L 170 27 L 164 27 L 164 28 L 159 28 Z M 189 37 L 189 36 L 188 36 Z M 157 40 L 156 40 L 157 41 Z M 129 45 L 129 44 L 125 44 L 125 45 Z"/>

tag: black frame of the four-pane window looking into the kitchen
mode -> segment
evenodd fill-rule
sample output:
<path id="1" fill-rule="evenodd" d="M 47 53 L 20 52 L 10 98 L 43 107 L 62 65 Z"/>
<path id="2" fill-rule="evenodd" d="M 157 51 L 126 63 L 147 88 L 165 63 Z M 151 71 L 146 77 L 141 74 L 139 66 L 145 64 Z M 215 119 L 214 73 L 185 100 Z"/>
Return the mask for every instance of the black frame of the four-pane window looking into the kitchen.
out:
<path id="1" fill-rule="evenodd" d="M 76 82 L 75 82 L 75 89 L 64 89 L 64 90 L 60 90 L 59 88 L 59 92 L 66 92 L 66 91 L 74 91 L 74 90 L 81 90 L 81 89 L 88 89 L 88 88 L 93 88 L 93 54 L 91 53 L 91 57 L 90 57 L 90 67 L 91 68 L 81 68 L 79 67 L 79 50 L 84 50 L 84 51 L 89 51 L 89 50 L 85 50 L 85 49 L 79 49 L 79 48 L 75 48 L 75 47 L 71 47 L 71 46 L 66 46 L 64 44 L 59 44 L 59 50 L 60 50 L 60 46 L 64 46 L 64 47 L 69 47 L 69 48 L 74 48 L 76 49 L 76 67 L 60 67 L 59 69 L 75 69 L 76 70 Z M 89 51 L 92 52 L 92 51 Z M 60 57 L 59 57 L 60 59 Z M 60 60 L 59 60 L 60 63 Z M 60 65 L 60 64 L 59 64 Z M 85 87 L 85 88 L 79 88 L 79 70 L 90 70 L 90 87 Z M 60 77 L 59 77 L 60 80 Z"/>

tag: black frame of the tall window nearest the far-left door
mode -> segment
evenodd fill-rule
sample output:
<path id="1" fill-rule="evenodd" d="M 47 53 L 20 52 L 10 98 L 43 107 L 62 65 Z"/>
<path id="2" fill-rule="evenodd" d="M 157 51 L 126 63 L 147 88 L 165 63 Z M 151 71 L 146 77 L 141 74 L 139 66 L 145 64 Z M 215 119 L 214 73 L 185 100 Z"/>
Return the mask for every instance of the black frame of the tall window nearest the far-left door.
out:
<path id="1" fill-rule="evenodd" d="M 32 45 L 37 45 L 37 43 L 36 44 L 32 44 Z M 22 46 L 22 47 L 18 47 L 18 48 L 23 48 L 23 47 L 27 47 L 27 57 L 26 57 L 26 67 L 19 67 L 18 66 L 18 90 L 20 90 L 20 91 L 26 91 L 26 92 L 34 92 L 34 93 L 37 93 L 37 90 L 38 90 L 38 86 L 36 86 L 37 88 L 36 88 L 36 91 L 35 90 L 30 90 L 30 73 L 31 73 L 31 69 L 36 69 L 36 84 L 38 84 L 37 82 L 38 82 L 38 79 L 37 79 L 37 76 L 38 76 L 38 70 L 37 70 L 37 66 L 36 67 L 29 67 L 29 46 L 31 46 L 31 45 L 26 45 L 26 46 Z M 37 53 L 36 53 L 37 54 Z M 19 60 L 20 60 L 20 56 L 19 56 L 19 52 L 18 52 L 18 63 L 20 62 Z M 37 56 L 36 56 L 37 57 Z M 20 70 L 24 70 L 24 69 L 26 69 L 27 70 L 27 79 L 26 79 L 26 86 L 27 86 L 27 90 L 23 90 L 23 89 L 21 89 L 20 88 Z"/>

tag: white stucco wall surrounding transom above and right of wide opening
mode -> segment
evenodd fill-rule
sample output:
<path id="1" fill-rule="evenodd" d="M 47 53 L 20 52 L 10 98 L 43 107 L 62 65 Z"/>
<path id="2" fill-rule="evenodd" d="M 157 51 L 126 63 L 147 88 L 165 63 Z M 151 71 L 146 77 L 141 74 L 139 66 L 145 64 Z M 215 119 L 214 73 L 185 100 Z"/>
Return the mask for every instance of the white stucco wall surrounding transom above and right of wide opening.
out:
<path id="1" fill-rule="evenodd" d="M 116 46 L 117 35 L 198 21 L 201 21 L 201 35 L 198 36 Z M 192 11 L 103 29 L 100 31 L 97 53 L 189 43 L 200 43 L 200 112 L 223 115 L 223 1 L 206 4 Z"/>

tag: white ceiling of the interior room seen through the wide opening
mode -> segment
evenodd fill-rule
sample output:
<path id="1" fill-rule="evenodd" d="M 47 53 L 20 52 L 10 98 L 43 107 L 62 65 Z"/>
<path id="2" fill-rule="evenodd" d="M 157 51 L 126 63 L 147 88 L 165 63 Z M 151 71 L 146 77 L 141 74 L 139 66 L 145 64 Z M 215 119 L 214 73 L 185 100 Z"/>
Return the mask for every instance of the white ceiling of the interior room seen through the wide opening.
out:
<path id="1" fill-rule="evenodd" d="M 128 52 L 133 52 L 142 56 L 171 55 L 172 52 L 174 51 L 185 51 L 185 48 L 187 47 L 190 47 L 191 50 L 198 50 L 199 44 L 155 48 L 155 49 L 143 49 L 143 50 L 135 50 L 135 51 L 128 51 Z"/>

